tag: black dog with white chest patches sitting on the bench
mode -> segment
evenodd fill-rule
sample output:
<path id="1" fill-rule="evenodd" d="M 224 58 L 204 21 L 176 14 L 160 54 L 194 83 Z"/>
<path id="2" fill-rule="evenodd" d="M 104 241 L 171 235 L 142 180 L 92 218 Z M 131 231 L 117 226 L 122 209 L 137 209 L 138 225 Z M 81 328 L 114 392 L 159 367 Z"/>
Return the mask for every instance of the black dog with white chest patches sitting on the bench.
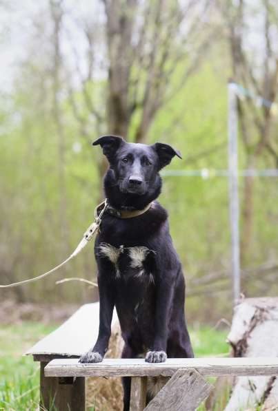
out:
<path id="1" fill-rule="evenodd" d="M 116 306 L 125 346 L 123 358 L 193 357 L 184 316 L 185 284 L 173 247 L 168 215 L 155 199 L 161 192 L 159 170 L 179 151 L 170 145 L 126 143 L 102 136 L 110 163 L 104 178 L 109 207 L 95 242 L 99 284 L 99 337 L 81 363 L 102 361 L 108 349 Z M 124 410 L 129 409 L 130 378 L 123 379 Z"/>

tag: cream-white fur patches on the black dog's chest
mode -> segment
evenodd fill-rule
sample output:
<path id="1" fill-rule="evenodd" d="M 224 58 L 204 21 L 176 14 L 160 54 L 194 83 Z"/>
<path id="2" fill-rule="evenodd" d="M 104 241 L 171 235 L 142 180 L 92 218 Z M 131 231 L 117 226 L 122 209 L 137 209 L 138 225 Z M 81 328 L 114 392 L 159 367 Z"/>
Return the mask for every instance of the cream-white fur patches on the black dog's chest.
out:
<path id="1" fill-rule="evenodd" d="M 107 257 L 112 264 L 115 265 L 116 277 L 120 277 L 119 271 L 119 256 L 121 253 L 128 253 L 130 257 L 130 267 L 131 268 L 138 268 L 137 273 L 135 274 L 136 277 L 141 277 L 144 274 L 143 269 L 143 261 L 146 260 L 148 253 L 150 250 L 145 246 L 138 246 L 138 247 L 124 247 L 119 246 L 119 248 L 112 246 L 106 242 L 101 242 L 99 245 L 99 256 L 100 257 Z M 153 282 L 154 278 L 153 275 L 150 274 L 150 281 Z"/>

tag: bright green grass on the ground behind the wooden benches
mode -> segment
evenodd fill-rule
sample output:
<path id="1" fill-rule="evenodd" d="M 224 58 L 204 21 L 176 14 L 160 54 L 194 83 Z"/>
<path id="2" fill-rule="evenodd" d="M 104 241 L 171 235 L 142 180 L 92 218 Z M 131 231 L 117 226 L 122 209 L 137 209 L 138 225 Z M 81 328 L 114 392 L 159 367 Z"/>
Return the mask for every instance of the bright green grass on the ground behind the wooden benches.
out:
<path id="1" fill-rule="evenodd" d="M 0 328 L 0 410 L 35 411 L 39 402 L 39 363 L 23 357 L 34 342 L 56 326 L 23 322 Z M 190 331 L 197 357 L 228 353 L 226 333 L 209 327 L 195 327 Z M 90 408 L 92 411 L 92 408 Z"/>

